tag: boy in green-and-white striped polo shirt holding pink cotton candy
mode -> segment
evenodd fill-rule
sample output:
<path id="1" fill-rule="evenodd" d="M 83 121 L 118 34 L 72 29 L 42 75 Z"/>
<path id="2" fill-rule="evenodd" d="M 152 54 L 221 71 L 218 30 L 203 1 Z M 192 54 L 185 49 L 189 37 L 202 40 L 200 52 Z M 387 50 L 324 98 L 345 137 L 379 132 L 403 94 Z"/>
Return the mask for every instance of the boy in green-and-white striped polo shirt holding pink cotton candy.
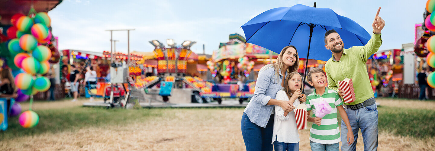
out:
<path id="1" fill-rule="evenodd" d="M 338 128 L 337 110 L 348 128 L 347 143 L 352 144 L 354 135 L 349 123 L 348 116 L 344 110 L 340 96 L 337 91 L 328 89 L 326 84 L 326 73 L 321 68 L 312 69 L 307 76 L 308 84 L 314 86 L 313 93 L 307 96 L 307 111 L 310 114 L 313 110 L 313 117 L 308 117 L 308 122 L 313 122 L 310 129 L 311 151 L 338 151 L 338 142 L 341 141 L 340 129 Z M 316 109 L 313 104 L 325 100 L 331 105 L 332 110 L 325 117 L 315 117 Z M 322 122 L 323 120 L 323 122 Z M 343 142 L 344 143 L 344 142 Z"/>

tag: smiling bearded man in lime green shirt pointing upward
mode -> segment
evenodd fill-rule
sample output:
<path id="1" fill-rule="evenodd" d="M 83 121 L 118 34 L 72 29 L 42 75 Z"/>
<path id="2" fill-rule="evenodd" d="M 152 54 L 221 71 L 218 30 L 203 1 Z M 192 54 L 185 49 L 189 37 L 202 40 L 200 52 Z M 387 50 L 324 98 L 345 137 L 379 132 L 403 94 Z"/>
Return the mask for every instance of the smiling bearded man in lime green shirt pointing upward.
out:
<path id="1" fill-rule="evenodd" d="M 368 57 L 378 51 L 382 44 L 381 30 L 385 26 L 385 21 L 378 16 L 380 10 L 381 7 L 379 7 L 372 23 L 373 37 L 365 46 L 344 49 L 343 40 L 335 30 L 328 30 L 325 33 L 325 47 L 332 52 L 331 59 L 325 65 L 328 88 L 338 91 L 340 97 L 343 97 L 345 94 L 337 87 L 338 81 L 351 78 L 355 86 L 356 100 L 345 104 L 355 141 L 351 145 L 345 143 L 348 142 L 346 140 L 348 130 L 345 122 L 341 120 L 341 142 L 343 142 L 341 149 L 343 151 L 356 150 L 360 128 L 364 150 L 375 151 L 378 148 L 378 110 L 365 63 Z"/>

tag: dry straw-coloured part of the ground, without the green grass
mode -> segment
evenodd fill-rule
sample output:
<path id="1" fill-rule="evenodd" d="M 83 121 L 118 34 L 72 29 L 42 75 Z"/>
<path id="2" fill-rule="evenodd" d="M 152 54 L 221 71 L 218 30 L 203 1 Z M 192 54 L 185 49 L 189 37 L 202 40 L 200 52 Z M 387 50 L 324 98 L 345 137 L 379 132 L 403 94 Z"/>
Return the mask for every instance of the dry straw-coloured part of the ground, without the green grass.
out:
<path id="1" fill-rule="evenodd" d="M 379 102 L 387 105 L 385 100 L 380 99 Z M 54 103 L 64 107 L 76 104 L 69 101 Z M 48 108 L 44 104 L 47 105 L 46 102 L 36 102 L 34 108 Z M 245 150 L 240 130 L 242 108 L 143 109 L 131 112 L 143 111 L 161 116 L 150 117 L 146 121 L 138 118 L 124 124 L 107 123 L 1 140 L 0 150 Z M 301 150 L 309 151 L 309 130 L 299 134 Z M 357 150 L 364 150 L 361 133 L 358 138 Z M 433 150 L 434 144 L 433 138 L 420 139 L 381 132 L 378 149 L 424 151 Z"/>

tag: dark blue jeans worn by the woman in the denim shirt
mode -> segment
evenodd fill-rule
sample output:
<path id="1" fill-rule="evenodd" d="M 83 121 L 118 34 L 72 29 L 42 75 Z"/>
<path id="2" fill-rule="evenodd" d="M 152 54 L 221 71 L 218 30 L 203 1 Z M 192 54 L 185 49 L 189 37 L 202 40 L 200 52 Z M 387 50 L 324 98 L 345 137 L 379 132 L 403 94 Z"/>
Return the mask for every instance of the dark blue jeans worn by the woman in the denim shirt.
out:
<path id="1" fill-rule="evenodd" d="M 243 112 L 241 129 L 247 151 L 272 151 L 273 120 L 272 114 L 266 128 L 262 128 L 252 123 L 248 115 Z"/>

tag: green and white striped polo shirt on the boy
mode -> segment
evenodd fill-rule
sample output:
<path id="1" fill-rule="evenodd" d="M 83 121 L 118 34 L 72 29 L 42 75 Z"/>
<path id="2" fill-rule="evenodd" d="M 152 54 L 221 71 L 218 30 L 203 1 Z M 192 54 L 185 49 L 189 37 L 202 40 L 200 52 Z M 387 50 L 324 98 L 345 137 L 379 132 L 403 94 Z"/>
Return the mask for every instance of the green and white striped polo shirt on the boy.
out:
<path id="1" fill-rule="evenodd" d="M 314 103 L 319 103 L 325 100 L 332 107 L 331 113 L 325 115 L 322 118 L 322 122 L 319 125 L 313 123 L 310 129 L 310 141 L 314 141 L 320 144 L 335 144 L 341 141 L 340 129 L 338 128 L 337 121 L 337 107 L 342 105 L 340 96 L 337 91 L 328 89 L 325 87 L 325 93 L 321 96 L 316 94 L 316 90 L 307 96 L 307 110 L 313 111 L 313 117 L 316 117 L 316 109 Z"/>

